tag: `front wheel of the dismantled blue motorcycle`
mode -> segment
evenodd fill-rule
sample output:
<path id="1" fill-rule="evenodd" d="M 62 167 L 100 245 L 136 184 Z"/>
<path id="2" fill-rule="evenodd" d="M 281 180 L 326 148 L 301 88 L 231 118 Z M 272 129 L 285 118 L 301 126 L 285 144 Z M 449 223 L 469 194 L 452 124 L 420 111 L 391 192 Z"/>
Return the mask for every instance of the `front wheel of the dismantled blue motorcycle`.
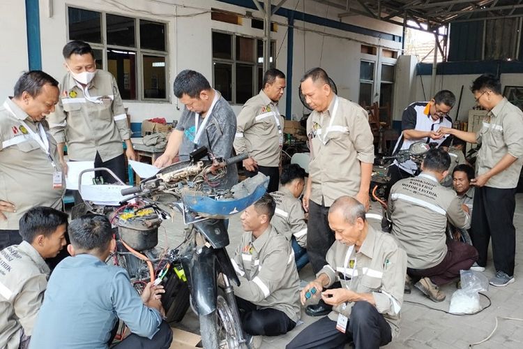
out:
<path id="1" fill-rule="evenodd" d="M 204 348 L 220 349 L 247 349 L 248 346 L 241 342 L 240 319 L 234 315 L 234 311 L 227 299 L 218 294 L 216 299 L 216 310 L 209 315 L 200 315 L 200 334 Z"/>

